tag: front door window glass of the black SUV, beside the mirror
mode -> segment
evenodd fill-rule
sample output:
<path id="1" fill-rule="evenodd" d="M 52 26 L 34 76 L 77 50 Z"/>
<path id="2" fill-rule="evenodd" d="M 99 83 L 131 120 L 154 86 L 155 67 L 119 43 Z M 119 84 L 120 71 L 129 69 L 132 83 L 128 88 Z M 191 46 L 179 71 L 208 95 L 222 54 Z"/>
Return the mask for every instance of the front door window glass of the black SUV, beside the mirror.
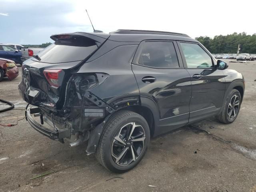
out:
<path id="1" fill-rule="evenodd" d="M 198 45 L 180 43 L 188 68 L 210 68 L 212 58 Z"/>

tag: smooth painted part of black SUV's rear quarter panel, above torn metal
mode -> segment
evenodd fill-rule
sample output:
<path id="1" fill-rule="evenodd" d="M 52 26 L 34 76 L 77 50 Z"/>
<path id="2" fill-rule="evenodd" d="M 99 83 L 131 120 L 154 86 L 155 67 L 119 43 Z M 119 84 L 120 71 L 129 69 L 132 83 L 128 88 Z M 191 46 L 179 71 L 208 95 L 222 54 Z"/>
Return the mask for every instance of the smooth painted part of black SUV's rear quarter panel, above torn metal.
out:
<path id="1" fill-rule="evenodd" d="M 107 102 L 114 97 L 126 94 L 138 94 L 139 89 L 132 72 L 131 62 L 138 45 L 117 46 L 96 60 L 86 62 L 78 73 L 106 73 L 109 77 L 101 84 L 92 88 L 97 97 Z M 110 67 L 111 66 L 111 67 Z"/>

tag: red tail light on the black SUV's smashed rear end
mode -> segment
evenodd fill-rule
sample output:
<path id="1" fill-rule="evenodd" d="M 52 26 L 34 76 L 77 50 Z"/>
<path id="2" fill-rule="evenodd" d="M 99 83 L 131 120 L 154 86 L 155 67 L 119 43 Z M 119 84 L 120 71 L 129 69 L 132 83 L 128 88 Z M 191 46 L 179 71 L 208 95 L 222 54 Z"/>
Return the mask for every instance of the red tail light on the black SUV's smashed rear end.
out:
<path id="1" fill-rule="evenodd" d="M 52 70 L 44 70 L 44 76 L 50 85 L 59 87 L 61 85 L 61 81 L 63 79 L 62 69 L 52 69 Z"/>

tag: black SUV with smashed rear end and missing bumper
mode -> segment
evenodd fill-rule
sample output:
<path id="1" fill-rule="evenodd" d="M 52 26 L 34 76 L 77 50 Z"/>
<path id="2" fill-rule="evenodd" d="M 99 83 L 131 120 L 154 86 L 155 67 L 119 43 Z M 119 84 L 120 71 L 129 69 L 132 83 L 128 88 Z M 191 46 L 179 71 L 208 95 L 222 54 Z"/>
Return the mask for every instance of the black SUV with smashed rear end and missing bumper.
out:
<path id="1" fill-rule="evenodd" d="M 117 30 L 51 36 L 22 65 L 26 119 L 113 172 L 136 166 L 150 137 L 216 116 L 232 123 L 244 78 L 186 34 Z M 38 119 L 37 119 L 37 118 Z M 47 125 L 46 125 L 46 124 Z"/>

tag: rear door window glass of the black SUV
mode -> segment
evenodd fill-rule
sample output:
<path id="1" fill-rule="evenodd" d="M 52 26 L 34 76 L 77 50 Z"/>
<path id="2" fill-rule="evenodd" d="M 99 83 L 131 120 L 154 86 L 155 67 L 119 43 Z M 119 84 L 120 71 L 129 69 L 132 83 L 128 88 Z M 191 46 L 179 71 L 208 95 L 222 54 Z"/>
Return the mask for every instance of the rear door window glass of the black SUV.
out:
<path id="1" fill-rule="evenodd" d="M 156 68 L 179 67 L 178 58 L 172 42 L 144 42 L 139 50 L 138 64 Z"/>

